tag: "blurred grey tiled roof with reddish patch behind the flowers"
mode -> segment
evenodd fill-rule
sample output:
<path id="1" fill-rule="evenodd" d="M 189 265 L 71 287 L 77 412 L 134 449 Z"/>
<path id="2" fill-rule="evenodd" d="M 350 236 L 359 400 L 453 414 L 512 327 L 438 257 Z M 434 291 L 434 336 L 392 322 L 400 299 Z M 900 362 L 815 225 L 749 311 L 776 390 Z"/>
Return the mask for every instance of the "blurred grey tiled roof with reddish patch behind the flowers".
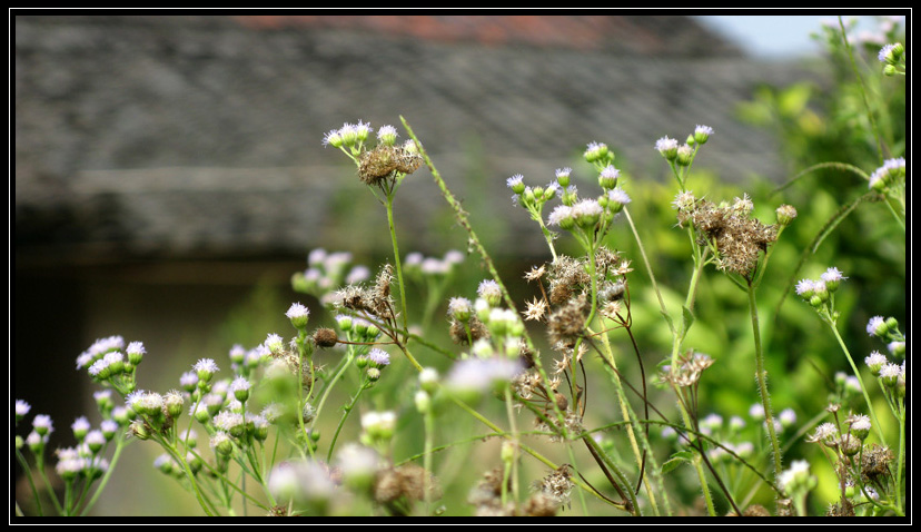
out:
<path id="1" fill-rule="evenodd" d="M 400 116 L 465 206 L 512 228 L 499 248 L 527 253 L 542 239 L 508 176 L 543 185 L 604 141 L 658 178 L 655 140 L 706 124 L 697 165 L 778 178 L 733 105 L 806 75 L 672 16 L 49 16 L 14 38 L 18 262 L 386 250 L 362 230 L 382 209 L 320 141 Z M 419 174 L 398 223 L 419 247 L 463 243 Z"/>

